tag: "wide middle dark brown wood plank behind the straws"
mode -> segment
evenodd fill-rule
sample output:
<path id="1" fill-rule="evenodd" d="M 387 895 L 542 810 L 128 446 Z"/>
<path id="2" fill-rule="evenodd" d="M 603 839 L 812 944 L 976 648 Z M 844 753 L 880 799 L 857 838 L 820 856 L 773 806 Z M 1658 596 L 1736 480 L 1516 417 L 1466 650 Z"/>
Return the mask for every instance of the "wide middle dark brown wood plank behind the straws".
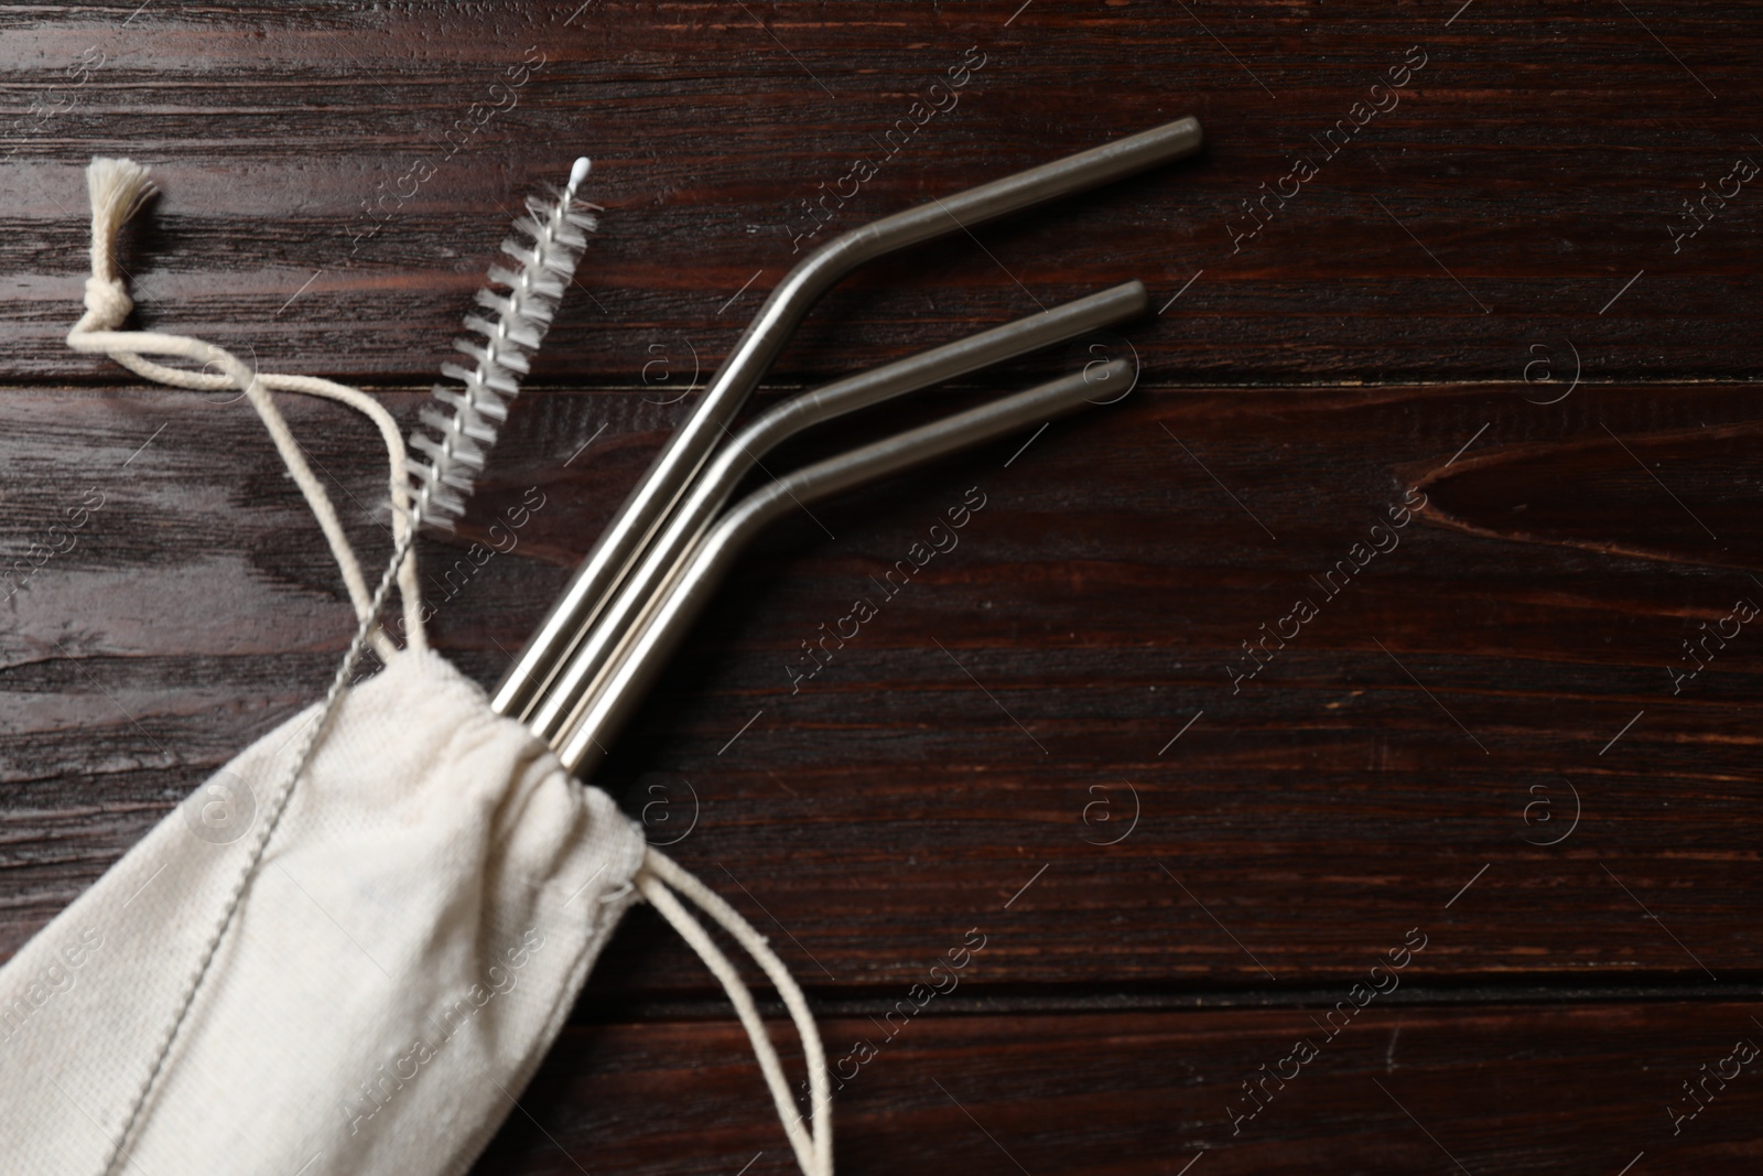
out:
<path id="1" fill-rule="evenodd" d="M 897 984 L 975 924 L 980 982 L 1005 987 L 1338 982 L 1416 924 L 1435 947 L 1414 975 L 1440 984 L 1754 979 L 1754 626 L 1673 668 L 1763 596 L 1731 441 L 1759 407 L 1738 384 L 1550 407 L 1141 388 L 1019 455 L 1028 437 L 816 508 L 837 538 L 807 517 L 767 536 L 601 781 L 825 993 Z M 673 411 L 522 402 L 464 538 L 425 545 L 432 635 L 467 672 L 501 674 Z M 289 414 L 384 550 L 376 441 L 331 406 Z M 9 605 L 11 949 L 321 691 L 347 607 L 245 406 L 14 391 L 0 420 L 0 552 L 106 495 Z M 1534 511 L 1488 488 L 1504 467 Z M 1421 481 L 1426 510 L 1373 531 Z M 529 487 L 520 545 L 458 564 Z M 973 487 L 959 545 L 885 596 Z M 1400 545 L 1361 571 L 1379 534 Z M 1617 550 L 1633 534 L 1657 555 Z M 1331 568 L 1335 596 L 1310 578 Z M 792 691 L 800 644 L 859 596 L 878 615 Z M 1299 596 L 1319 615 L 1246 677 L 1241 642 Z M 659 927 L 635 942 L 599 991 L 705 991 Z"/>

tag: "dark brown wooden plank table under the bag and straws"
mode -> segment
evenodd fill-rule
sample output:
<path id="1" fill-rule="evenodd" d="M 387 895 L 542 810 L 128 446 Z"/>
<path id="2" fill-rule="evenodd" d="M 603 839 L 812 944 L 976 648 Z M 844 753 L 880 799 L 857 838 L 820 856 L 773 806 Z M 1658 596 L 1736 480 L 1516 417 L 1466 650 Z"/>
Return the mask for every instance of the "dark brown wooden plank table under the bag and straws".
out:
<path id="1" fill-rule="evenodd" d="M 1195 115 L 1199 157 L 815 310 L 756 402 L 1132 277 L 1157 314 L 1098 344 L 1142 361 L 1125 400 L 772 531 L 598 783 L 806 984 L 843 1172 L 1758 1171 L 1756 1067 L 1685 1093 L 1763 1042 L 1754 5 L 4 19 L 0 552 L 104 506 L 7 603 L 0 952 L 317 696 L 349 629 L 242 402 L 63 346 L 92 155 L 164 189 L 125 242 L 143 326 L 407 423 L 518 199 L 594 157 L 580 287 L 421 545 L 434 640 L 488 684 L 793 249 Z M 376 439 L 287 413 L 377 562 Z M 531 487 L 515 550 L 448 577 Z M 793 1167 L 647 910 L 520 1105 L 478 1172 Z"/>

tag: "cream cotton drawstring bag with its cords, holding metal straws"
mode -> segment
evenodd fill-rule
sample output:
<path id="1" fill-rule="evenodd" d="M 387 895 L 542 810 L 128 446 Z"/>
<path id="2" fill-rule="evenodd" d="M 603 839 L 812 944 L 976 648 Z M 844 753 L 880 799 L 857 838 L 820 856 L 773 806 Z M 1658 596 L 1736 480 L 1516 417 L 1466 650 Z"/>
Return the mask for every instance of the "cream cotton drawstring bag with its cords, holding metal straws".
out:
<path id="1" fill-rule="evenodd" d="M 820 1035 L 765 938 L 427 647 L 405 455 L 386 411 L 201 340 L 118 330 L 132 303 L 115 238 L 152 187 L 129 160 L 93 160 L 88 187 L 93 266 L 69 344 L 159 383 L 242 390 L 312 504 L 360 626 L 326 700 L 217 770 L 0 968 L 0 1171 L 464 1172 L 619 919 L 647 899 L 728 991 L 802 1172 L 830 1176 Z M 377 425 L 397 540 L 377 592 L 272 390 L 330 397 Z M 376 628 L 393 580 L 404 649 Z M 351 688 L 363 644 L 386 666 Z M 681 897 L 781 994 L 811 1128 L 740 973 Z"/>

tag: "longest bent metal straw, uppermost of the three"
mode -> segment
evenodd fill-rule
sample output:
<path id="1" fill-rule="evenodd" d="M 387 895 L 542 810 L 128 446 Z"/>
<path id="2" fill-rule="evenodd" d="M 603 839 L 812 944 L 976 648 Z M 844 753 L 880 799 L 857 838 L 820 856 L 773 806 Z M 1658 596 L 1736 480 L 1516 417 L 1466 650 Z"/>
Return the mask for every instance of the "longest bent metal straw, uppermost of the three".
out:
<path id="1" fill-rule="evenodd" d="M 866 261 L 908 245 L 1121 180 L 1190 155 L 1199 146 L 1199 122 L 1179 118 L 943 199 L 933 197 L 927 205 L 836 236 L 809 254 L 760 307 L 693 414 L 656 457 L 587 561 L 577 569 L 562 598 L 520 651 L 513 668 L 497 686 L 492 705 L 518 719 L 531 714 L 534 696 L 577 645 L 651 536 L 659 531 L 802 316 L 839 279 Z"/>

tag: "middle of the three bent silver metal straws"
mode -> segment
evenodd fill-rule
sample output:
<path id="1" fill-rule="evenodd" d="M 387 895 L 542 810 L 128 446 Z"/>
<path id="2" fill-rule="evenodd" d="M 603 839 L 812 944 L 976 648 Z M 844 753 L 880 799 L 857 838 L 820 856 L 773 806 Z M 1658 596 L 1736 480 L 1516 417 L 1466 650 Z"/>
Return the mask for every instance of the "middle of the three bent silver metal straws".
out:
<path id="1" fill-rule="evenodd" d="M 977 372 L 1037 347 L 1123 323 L 1144 314 L 1148 305 L 1149 296 L 1142 282 L 1123 282 L 1088 298 L 816 388 L 755 420 L 723 444 L 710 464 L 693 480 L 686 501 L 642 554 L 635 571 L 617 589 L 612 603 L 599 610 L 582 644 L 532 700 L 527 726 L 539 739 L 550 739 L 559 730 L 584 686 L 594 679 L 624 638 L 631 619 L 642 614 L 656 589 L 673 573 L 673 566 L 684 557 L 693 540 L 710 524 L 740 480 L 762 462 L 769 450 L 811 425 Z"/>

